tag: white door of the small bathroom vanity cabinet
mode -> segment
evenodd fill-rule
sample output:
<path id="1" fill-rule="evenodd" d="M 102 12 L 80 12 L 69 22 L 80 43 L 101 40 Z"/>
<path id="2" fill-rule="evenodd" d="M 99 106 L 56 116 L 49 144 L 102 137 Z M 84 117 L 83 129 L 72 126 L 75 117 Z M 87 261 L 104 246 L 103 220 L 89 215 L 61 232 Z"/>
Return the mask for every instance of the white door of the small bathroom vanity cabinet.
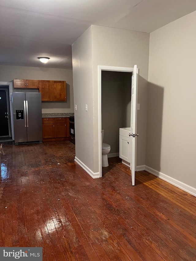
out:
<path id="1" fill-rule="evenodd" d="M 130 162 L 130 138 L 119 135 L 119 158 Z"/>

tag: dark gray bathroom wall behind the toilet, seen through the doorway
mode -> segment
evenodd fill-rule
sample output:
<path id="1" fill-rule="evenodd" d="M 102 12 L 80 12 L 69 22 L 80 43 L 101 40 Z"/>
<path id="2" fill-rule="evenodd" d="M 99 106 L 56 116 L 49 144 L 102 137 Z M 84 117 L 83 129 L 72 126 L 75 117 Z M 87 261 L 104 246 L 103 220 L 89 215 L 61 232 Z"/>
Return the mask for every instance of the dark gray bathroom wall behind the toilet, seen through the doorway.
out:
<path id="1" fill-rule="evenodd" d="M 101 115 L 104 143 L 119 153 L 119 128 L 130 127 L 132 73 L 102 71 Z"/>

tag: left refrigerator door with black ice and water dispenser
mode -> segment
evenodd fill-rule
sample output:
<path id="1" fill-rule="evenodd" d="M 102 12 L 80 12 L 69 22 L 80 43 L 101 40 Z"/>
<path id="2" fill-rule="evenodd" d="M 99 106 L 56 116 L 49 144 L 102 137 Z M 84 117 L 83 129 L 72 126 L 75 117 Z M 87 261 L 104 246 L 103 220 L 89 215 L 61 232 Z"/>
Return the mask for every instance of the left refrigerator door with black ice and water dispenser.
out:
<path id="1" fill-rule="evenodd" d="M 16 119 L 17 111 L 21 110 L 25 115 L 25 92 L 13 92 L 13 125 L 14 125 L 14 140 L 15 143 L 27 142 L 27 128 L 25 127 L 25 117 L 23 119 Z M 21 112 L 21 113 L 22 113 Z"/>

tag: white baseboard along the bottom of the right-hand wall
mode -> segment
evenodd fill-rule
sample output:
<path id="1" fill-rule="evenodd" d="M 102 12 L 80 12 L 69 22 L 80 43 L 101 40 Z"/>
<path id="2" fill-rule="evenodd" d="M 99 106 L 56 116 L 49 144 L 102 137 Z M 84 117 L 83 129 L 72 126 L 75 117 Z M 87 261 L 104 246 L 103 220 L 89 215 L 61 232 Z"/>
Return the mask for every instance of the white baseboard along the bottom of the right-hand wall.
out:
<path id="1" fill-rule="evenodd" d="M 166 175 L 166 174 L 164 174 L 160 171 L 154 170 L 153 168 L 148 167 L 146 165 L 145 165 L 145 170 L 148 171 L 149 173 L 155 175 L 156 177 L 159 177 L 159 178 L 169 182 L 170 184 L 172 184 L 172 185 L 174 185 L 178 188 L 183 189 L 184 191 L 190 193 L 191 195 L 196 196 L 196 188 L 193 188 L 193 187 L 191 187 L 191 186 L 189 186 L 189 185 L 187 185 L 187 184 L 185 184 L 185 183 L 183 183 L 183 182 L 181 182 L 181 181 L 179 181 L 175 178 L 172 178 L 172 177 L 170 177 L 170 176 L 168 176 L 168 175 Z"/>

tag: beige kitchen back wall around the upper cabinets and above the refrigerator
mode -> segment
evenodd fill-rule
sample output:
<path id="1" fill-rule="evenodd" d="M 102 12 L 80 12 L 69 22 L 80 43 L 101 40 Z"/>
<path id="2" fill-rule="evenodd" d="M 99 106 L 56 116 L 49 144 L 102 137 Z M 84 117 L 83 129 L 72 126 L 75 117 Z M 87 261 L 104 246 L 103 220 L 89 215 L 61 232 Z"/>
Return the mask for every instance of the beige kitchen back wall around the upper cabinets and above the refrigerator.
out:
<path id="1" fill-rule="evenodd" d="M 74 112 L 72 69 L 0 65 L 0 81 L 9 82 L 13 79 L 66 81 L 67 102 L 42 102 L 42 113 Z"/>

